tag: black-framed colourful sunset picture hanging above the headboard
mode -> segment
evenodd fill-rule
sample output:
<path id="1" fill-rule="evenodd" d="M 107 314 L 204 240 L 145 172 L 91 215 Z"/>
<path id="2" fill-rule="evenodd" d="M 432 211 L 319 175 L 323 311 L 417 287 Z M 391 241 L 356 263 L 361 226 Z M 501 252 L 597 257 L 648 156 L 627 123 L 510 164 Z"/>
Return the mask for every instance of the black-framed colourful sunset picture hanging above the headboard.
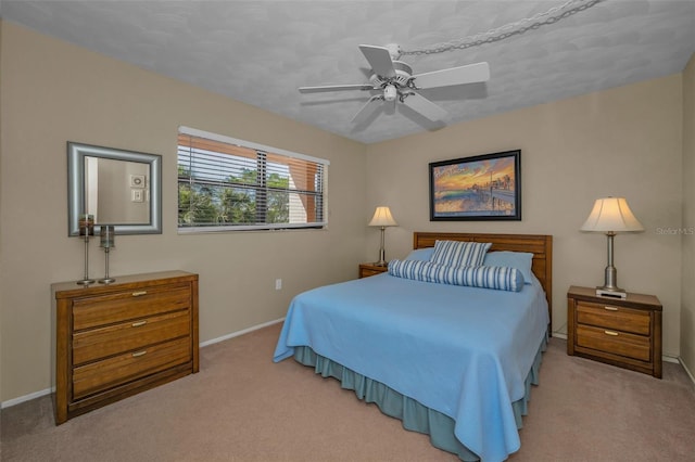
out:
<path id="1" fill-rule="evenodd" d="M 430 221 L 521 220 L 521 151 L 430 164 Z"/>

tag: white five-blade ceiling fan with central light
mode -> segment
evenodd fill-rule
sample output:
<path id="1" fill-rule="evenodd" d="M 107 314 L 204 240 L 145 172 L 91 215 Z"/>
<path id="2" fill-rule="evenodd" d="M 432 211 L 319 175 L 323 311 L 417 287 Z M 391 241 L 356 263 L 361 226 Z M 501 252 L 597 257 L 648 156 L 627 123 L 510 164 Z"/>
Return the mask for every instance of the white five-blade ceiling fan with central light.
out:
<path id="1" fill-rule="evenodd" d="M 395 43 L 386 47 L 361 44 L 359 50 L 371 65 L 369 84 L 300 87 L 299 89 L 301 93 L 343 90 L 376 92 L 352 118 L 354 124 L 365 121 L 384 101 L 393 102 L 394 105 L 396 102 L 403 103 L 430 120 L 442 120 L 447 112 L 420 95 L 417 90 L 482 82 L 490 79 L 490 66 L 485 62 L 413 75 L 413 68 L 403 61 L 399 61 L 401 48 Z"/>

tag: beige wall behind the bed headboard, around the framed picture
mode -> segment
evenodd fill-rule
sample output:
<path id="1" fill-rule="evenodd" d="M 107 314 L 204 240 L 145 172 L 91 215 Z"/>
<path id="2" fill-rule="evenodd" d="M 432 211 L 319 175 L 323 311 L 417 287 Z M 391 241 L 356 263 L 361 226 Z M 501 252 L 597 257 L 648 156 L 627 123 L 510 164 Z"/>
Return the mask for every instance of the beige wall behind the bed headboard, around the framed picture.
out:
<path id="1" fill-rule="evenodd" d="M 664 304 L 664 351 L 678 356 L 681 307 L 681 75 L 529 107 L 367 146 L 367 201 L 389 205 L 389 257 L 413 231 L 554 236 L 553 329 L 566 333 L 567 288 L 603 284 L 606 236 L 580 226 L 602 196 L 624 196 L 644 224 L 616 238 L 618 284 Z M 430 222 L 428 163 L 521 150 L 522 220 Z M 370 247 L 378 235 L 369 235 Z"/>

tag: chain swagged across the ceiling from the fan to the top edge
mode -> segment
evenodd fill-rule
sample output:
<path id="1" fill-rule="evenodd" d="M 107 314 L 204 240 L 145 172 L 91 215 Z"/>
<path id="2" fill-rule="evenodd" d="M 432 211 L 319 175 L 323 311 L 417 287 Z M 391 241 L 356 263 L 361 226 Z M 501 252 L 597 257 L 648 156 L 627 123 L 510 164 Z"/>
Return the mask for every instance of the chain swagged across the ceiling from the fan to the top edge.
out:
<path id="1" fill-rule="evenodd" d="M 431 48 L 419 48 L 413 50 L 401 50 L 401 54 L 433 54 L 443 53 L 444 51 L 465 50 L 471 47 L 479 47 L 485 43 L 493 43 L 500 40 L 507 39 L 511 36 L 523 34 L 530 29 L 538 29 L 548 24 L 555 24 L 560 20 L 569 17 L 581 11 L 587 10 L 606 0 L 569 0 L 566 3 L 553 7 L 549 10 L 534 14 L 531 17 L 526 17 L 516 23 L 509 23 L 502 27 L 490 29 L 486 33 L 476 34 L 473 36 L 464 37 L 457 40 L 450 40 L 442 43 L 437 43 Z"/>

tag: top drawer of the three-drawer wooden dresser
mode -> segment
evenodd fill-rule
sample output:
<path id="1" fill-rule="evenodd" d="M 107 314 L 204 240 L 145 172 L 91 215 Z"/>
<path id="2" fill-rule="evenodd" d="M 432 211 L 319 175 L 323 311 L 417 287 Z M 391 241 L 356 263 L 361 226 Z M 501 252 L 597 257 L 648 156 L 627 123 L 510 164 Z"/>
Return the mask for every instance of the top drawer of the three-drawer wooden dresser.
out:
<path id="1" fill-rule="evenodd" d="M 73 331 L 189 308 L 190 285 L 157 285 L 73 303 Z"/>

